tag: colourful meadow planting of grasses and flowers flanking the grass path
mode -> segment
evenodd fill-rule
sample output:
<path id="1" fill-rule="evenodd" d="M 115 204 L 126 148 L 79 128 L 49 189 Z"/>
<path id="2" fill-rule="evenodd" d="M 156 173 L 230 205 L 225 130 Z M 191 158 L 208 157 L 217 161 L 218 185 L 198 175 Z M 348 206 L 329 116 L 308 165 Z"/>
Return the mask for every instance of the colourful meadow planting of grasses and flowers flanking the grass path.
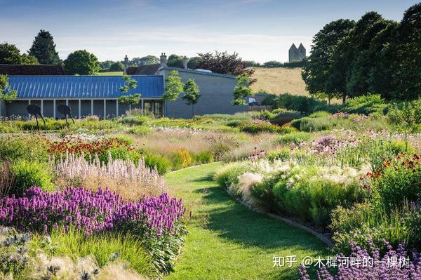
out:
<path id="1" fill-rule="evenodd" d="M 323 234 L 338 258 L 379 262 L 301 267 L 301 279 L 419 279 L 412 252 L 421 249 L 420 100 L 269 99 L 272 111 L 190 120 L 136 109 L 69 128 L 47 119 L 41 131 L 33 120 L 1 120 L 0 278 L 171 274 L 200 211 L 165 176 L 221 161 L 213 180 L 229 195 Z M 392 257 L 408 267 L 380 264 Z"/>

